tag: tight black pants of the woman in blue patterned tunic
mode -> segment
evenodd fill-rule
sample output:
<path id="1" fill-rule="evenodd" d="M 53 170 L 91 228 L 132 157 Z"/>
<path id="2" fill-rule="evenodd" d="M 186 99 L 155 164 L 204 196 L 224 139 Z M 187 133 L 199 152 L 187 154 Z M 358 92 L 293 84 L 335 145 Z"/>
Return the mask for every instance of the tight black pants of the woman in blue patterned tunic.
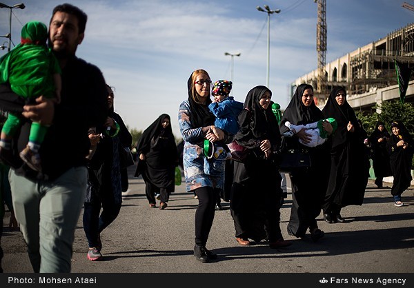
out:
<path id="1" fill-rule="evenodd" d="M 195 210 L 195 244 L 205 246 L 213 226 L 215 204 L 217 200 L 217 190 L 212 187 L 201 187 L 195 189 L 195 194 L 199 200 Z"/>

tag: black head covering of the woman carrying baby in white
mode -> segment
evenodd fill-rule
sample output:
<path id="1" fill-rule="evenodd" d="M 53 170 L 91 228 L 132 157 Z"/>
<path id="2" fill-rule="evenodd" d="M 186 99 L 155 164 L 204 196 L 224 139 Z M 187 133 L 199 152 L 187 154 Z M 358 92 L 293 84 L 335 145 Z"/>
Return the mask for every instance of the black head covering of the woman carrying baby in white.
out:
<path id="1" fill-rule="evenodd" d="M 301 84 L 297 86 L 293 98 L 290 100 L 288 107 L 283 113 L 282 120 L 280 121 L 279 129 L 281 133 L 288 131 L 288 127 L 284 125 L 286 121 L 289 121 L 293 125 L 306 125 L 324 119 L 324 114 L 316 107 L 315 102 L 308 107 L 302 102 L 302 96 L 306 89 L 313 91 L 312 85 Z"/>

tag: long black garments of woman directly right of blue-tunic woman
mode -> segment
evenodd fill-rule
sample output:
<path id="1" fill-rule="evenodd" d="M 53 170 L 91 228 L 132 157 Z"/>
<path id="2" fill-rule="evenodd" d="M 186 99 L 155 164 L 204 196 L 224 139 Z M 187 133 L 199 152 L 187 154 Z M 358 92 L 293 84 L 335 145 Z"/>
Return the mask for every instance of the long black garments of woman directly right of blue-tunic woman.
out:
<path id="1" fill-rule="evenodd" d="M 279 227 L 279 201 L 282 197 L 282 178 L 277 165 L 264 157 L 260 141 L 268 139 L 277 150 L 280 132 L 270 107 L 259 105 L 259 99 L 270 91 L 264 86 L 250 90 L 239 114 L 240 130 L 235 139 L 250 149 L 244 163 L 234 161 L 234 177 L 230 194 L 230 213 L 234 220 L 236 238 L 270 243 L 282 240 Z"/>

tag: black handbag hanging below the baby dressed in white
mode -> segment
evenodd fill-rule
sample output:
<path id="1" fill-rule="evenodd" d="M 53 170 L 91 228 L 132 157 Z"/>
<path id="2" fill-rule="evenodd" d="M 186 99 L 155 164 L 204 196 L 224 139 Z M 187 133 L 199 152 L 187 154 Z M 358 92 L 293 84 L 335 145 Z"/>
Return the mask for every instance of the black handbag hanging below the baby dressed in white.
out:
<path id="1" fill-rule="evenodd" d="M 304 149 L 290 149 L 279 155 L 279 170 L 290 172 L 293 169 L 311 167 L 311 156 Z"/>

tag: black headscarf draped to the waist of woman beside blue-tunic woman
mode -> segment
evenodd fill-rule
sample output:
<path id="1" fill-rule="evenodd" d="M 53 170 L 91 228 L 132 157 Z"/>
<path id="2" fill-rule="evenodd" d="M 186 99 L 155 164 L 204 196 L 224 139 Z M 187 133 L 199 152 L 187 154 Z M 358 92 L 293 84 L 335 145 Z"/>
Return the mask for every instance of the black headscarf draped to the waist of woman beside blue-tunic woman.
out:
<path id="1" fill-rule="evenodd" d="M 280 143 L 279 127 L 272 112 L 272 107 L 269 105 L 268 109 L 263 110 L 259 104 L 266 91 L 270 92 L 270 96 L 272 95 L 272 92 L 266 86 L 259 85 L 252 88 L 246 96 L 244 109 L 239 114 L 240 129 L 235 136 L 235 140 L 240 145 L 255 148 L 258 145 L 258 140 L 265 139 L 268 139 L 272 146 L 278 146 Z"/>

